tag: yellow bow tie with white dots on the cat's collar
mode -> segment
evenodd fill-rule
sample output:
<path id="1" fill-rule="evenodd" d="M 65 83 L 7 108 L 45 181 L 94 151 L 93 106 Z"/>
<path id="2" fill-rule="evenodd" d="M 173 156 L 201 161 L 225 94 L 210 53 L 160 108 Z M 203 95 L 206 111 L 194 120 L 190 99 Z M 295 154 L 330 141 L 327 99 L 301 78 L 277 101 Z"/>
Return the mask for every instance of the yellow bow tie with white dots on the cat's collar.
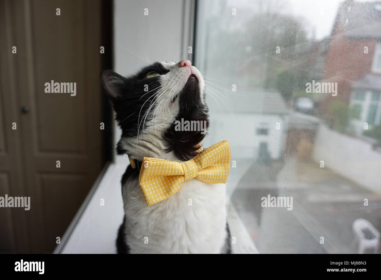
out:
<path id="1" fill-rule="evenodd" d="M 186 162 L 171 162 L 144 157 L 139 183 L 147 205 L 174 195 L 186 180 L 196 178 L 205 183 L 226 183 L 230 168 L 230 147 L 221 141 Z"/>

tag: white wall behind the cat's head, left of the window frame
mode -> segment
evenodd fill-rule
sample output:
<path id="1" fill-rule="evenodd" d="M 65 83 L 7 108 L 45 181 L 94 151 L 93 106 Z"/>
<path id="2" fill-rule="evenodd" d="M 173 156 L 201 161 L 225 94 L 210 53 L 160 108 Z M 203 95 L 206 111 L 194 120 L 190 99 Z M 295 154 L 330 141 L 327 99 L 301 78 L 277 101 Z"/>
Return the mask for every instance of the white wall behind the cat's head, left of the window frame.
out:
<path id="1" fill-rule="evenodd" d="M 189 5 L 189 0 L 115 0 L 114 71 L 123 76 L 133 74 L 148 64 L 145 59 L 150 62 L 188 59 L 187 41 L 191 38 L 183 30 L 185 21 L 191 20 Z M 144 8 L 148 8 L 148 16 L 144 16 Z M 120 130 L 115 128 L 115 145 L 119 138 Z M 128 163 L 126 156 L 117 156 L 115 161 Z"/>

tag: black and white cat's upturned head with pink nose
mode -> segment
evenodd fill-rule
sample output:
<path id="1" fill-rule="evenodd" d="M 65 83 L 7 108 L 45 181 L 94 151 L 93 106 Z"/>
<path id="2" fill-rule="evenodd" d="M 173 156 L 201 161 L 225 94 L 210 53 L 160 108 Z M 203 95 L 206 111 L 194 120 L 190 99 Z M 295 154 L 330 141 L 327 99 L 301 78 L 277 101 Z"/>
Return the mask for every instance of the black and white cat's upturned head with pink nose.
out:
<path id="1" fill-rule="evenodd" d="M 203 77 L 189 60 L 155 62 L 130 77 L 104 70 L 101 80 L 122 129 L 118 154 L 140 161 L 197 155 L 206 135 L 208 107 Z"/>

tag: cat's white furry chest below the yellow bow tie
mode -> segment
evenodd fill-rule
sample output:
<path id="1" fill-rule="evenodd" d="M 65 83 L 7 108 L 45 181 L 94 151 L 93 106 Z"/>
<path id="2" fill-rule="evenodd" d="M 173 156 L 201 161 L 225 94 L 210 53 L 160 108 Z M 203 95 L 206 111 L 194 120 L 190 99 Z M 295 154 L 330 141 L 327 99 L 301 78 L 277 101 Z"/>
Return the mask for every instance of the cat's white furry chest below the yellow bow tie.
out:
<path id="1" fill-rule="evenodd" d="M 150 206 L 137 178 L 122 193 L 131 253 L 219 253 L 226 237 L 225 184 L 191 179 Z"/>

